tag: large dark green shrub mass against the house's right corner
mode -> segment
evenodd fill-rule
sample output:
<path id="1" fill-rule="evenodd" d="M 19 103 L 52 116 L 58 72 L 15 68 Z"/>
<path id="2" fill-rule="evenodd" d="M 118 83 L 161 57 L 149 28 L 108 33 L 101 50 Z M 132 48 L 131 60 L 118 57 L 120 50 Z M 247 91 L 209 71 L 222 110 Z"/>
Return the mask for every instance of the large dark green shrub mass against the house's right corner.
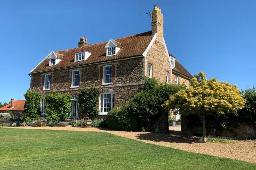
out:
<path id="1" fill-rule="evenodd" d="M 107 127 L 120 131 L 155 131 L 155 122 L 165 113 L 162 104 L 170 95 L 185 88 L 184 85 L 158 84 L 156 79 L 147 78 L 141 91 L 128 104 L 108 112 Z"/>

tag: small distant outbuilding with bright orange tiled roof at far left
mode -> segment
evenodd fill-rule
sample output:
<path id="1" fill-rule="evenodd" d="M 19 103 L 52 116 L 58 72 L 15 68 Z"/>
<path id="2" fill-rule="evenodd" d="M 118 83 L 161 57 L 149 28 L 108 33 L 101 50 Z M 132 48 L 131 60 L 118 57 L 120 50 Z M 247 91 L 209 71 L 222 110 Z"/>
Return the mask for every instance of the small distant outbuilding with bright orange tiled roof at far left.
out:
<path id="1" fill-rule="evenodd" d="M 11 110 L 14 118 L 23 117 L 25 101 L 26 100 L 14 101 L 14 98 L 11 98 L 9 104 L 0 108 L 0 112 L 6 113 L 8 110 Z"/>

